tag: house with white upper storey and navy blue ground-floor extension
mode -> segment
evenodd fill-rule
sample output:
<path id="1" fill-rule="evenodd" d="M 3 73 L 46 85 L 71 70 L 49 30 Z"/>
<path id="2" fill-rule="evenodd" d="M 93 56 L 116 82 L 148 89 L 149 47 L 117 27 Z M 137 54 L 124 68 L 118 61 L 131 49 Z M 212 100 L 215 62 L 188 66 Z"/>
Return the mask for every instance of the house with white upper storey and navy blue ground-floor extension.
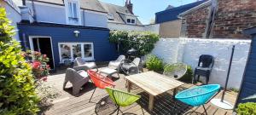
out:
<path id="1" fill-rule="evenodd" d="M 97 0 L 23 0 L 18 23 L 21 44 L 49 56 L 51 68 L 82 57 L 116 56 L 109 43 L 108 12 Z"/>

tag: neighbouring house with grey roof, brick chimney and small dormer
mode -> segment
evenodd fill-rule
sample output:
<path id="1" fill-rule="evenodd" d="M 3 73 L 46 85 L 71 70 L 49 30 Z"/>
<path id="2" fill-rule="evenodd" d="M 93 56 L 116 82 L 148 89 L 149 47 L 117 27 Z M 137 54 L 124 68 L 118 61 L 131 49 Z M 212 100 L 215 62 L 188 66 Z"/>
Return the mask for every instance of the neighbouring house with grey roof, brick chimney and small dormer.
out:
<path id="1" fill-rule="evenodd" d="M 159 25 L 143 25 L 133 13 L 131 0 L 126 0 L 125 6 L 101 2 L 102 7 L 108 12 L 108 28 L 119 31 L 148 31 L 159 33 Z"/>

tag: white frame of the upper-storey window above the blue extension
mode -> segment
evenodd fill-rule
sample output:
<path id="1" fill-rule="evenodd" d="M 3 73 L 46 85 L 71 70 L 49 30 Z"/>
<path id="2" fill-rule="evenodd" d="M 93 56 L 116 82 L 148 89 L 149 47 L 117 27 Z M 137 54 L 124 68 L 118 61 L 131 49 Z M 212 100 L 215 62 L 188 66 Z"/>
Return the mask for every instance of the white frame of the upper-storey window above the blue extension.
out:
<path id="1" fill-rule="evenodd" d="M 68 25 L 81 25 L 81 10 L 80 10 L 80 2 L 79 0 L 65 0 L 65 10 L 66 10 L 66 23 Z M 78 22 L 73 22 L 73 21 L 70 21 L 69 18 L 70 18 L 70 11 L 69 11 L 69 3 L 72 3 L 72 8 L 73 8 L 73 3 L 76 3 L 76 6 L 77 6 L 77 17 L 78 18 Z M 73 10 L 72 9 L 72 17 L 71 18 L 75 18 L 74 17 L 74 14 L 73 14 Z"/>

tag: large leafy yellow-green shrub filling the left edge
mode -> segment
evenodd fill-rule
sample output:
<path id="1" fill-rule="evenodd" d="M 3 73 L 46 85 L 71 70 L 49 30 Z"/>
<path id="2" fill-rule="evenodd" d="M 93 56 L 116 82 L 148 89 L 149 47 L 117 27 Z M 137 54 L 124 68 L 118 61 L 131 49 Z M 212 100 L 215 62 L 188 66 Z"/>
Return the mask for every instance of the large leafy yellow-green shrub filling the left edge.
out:
<path id="1" fill-rule="evenodd" d="M 36 114 L 32 67 L 26 63 L 20 43 L 12 38 L 14 27 L 9 24 L 5 9 L 0 9 L 0 114 Z"/>

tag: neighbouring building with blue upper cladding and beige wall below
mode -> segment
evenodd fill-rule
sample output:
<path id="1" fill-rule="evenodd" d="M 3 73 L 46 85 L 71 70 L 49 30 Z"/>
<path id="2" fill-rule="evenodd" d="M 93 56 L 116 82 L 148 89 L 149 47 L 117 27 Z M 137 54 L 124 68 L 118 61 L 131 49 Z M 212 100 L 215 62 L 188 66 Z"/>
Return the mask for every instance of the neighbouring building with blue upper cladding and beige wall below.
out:
<path id="1" fill-rule="evenodd" d="M 181 14 L 189 9 L 195 8 L 206 0 L 189 3 L 179 7 L 169 5 L 166 10 L 155 14 L 155 23 L 160 24 L 160 37 L 180 37 L 182 29 L 182 20 L 178 18 Z"/>

